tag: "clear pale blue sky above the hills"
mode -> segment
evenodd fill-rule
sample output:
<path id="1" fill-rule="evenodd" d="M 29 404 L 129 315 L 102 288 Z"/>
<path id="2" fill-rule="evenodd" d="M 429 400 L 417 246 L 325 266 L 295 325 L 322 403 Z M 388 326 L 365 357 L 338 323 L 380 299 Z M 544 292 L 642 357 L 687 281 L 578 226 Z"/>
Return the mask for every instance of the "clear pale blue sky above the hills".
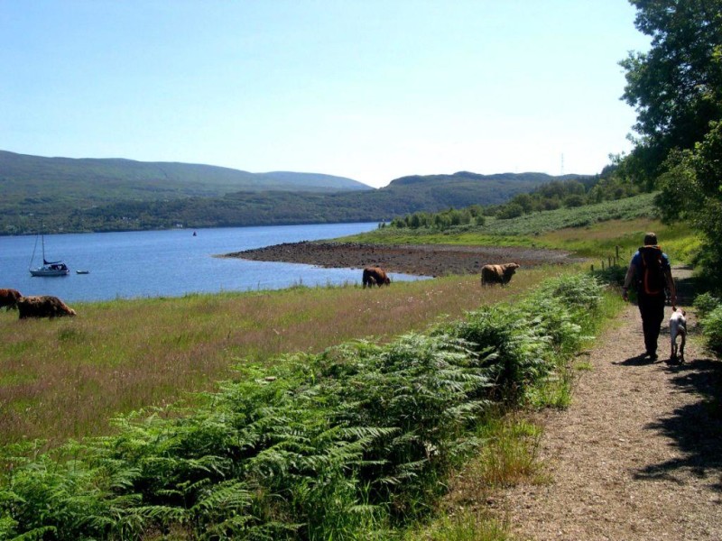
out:
<path id="1" fill-rule="evenodd" d="M 618 61 L 648 44 L 626 0 L 0 0 L 0 150 L 594 174 L 630 149 Z"/>

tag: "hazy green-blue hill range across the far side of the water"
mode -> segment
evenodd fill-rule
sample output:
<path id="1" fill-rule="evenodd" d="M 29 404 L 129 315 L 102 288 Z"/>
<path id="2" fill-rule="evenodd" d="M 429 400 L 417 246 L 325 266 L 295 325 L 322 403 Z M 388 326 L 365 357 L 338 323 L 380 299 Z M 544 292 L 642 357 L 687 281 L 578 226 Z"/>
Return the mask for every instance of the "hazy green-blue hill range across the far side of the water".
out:
<path id="1" fill-rule="evenodd" d="M 384 188 L 351 179 L 0 151 L 0 234 L 385 221 L 496 205 L 555 179 L 543 173 L 411 176 Z M 235 188 L 234 188 L 235 187 Z"/>

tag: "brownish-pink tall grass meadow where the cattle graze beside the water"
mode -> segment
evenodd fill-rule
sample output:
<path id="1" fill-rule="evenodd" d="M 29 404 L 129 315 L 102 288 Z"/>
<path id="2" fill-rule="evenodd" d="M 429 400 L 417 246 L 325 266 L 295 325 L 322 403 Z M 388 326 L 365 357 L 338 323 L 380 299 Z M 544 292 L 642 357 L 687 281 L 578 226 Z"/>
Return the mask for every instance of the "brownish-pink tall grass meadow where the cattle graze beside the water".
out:
<path id="1" fill-rule="evenodd" d="M 481 289 L 478 277 L 467 276 L 384 289 L 116 300 L 73 305 L 78 316 L 56 320 L 19 321 L 3 311 L 0 444 L 106 433 L 116 412 L 212 390 L 237 364 L 421 331 L 441 315 L 458 317 L 533 288 L 551 271 L 519 272 L 504 289 Z"/>

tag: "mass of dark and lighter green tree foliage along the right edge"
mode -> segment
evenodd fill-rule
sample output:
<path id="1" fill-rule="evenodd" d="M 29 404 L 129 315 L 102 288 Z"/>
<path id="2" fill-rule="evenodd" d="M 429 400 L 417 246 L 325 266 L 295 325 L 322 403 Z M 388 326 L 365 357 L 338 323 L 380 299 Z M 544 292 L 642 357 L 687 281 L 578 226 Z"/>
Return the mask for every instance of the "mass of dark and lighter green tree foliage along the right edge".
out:
<path id="1" fill-rule="evenodd" d="M 652 41 L 621 62 L 640 135 L 622 169 L 661 188 L 665 220 L 687 220 L 708 237 L 703 262 L 722 277 L 722 0 L 630 1 Z"/>

